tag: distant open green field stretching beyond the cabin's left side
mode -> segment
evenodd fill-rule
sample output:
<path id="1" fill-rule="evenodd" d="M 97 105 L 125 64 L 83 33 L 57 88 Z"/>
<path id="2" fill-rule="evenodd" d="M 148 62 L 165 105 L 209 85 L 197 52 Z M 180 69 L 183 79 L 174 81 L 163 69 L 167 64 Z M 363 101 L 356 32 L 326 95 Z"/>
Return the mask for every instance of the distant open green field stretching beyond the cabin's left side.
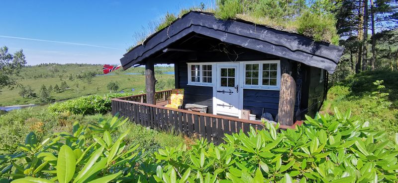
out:
<path id="1" fill-rule="evenodd" d="M 173 74 L 165 74 L 163 72 L 173 72 L 173 66 L 157 66 L 155 67 L 155 77 L 158 80 L 159 86 L 161 83 L 174 83 L 170 80 L 174 79 Z M 129 68 L 127 70 L 119 69 L 107 75 L 97 75 L 92 78 L 89 83 L 85 79 L 78 79 L 77 75 L 85 73 L 102 74 L 102 65 L 96 64 L 41 64 L 35 66 L 24 67 L 19 76 L 16 78 L 17 82 L 23 86 L 31 86 L 34 92 L 39 96 L 40 88 L 44 84 L 46 88 L 50 85 L 54 87 L 56 84 L 61 85 L 65 81 L 69 89 L 57 93 L 50 92 L 50 97 L 55 101 L 68 100 L 84 95 L 91 94 L 107 94 L 109 90 L 106 85 L 110 81 L 116 81 L 119 84 L 118 91 L 133 93 L 143 92 L 145 90 L 145 76 L 142 74 L 144 67 Z M 138 73 L 129 75 L 127 73 Z M 72 75 L 72 80 L 70 76 Z M 77 87 L 77 84 L 79 88 Z M 164 87 L 160 86 L 160 87 Z M 169 86 L 170 87 L 170 86 Z M 163 88 L 159 88 L 163 89 Z M 40 104 L 37 98 L 23 98 L 18 95 L 20 88 L 15 87 L 10 90 L 4 88 L 1 92 L 0 106 L 20 105 L 20 104 Z"/>

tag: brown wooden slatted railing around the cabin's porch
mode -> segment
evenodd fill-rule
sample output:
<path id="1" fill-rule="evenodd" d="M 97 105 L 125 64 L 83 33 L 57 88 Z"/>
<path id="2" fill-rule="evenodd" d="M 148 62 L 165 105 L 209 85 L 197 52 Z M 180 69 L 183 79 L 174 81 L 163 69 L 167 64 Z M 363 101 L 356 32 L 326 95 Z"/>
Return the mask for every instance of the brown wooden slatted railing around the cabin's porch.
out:
<path id="1" fill-rule="evenodd" d="M 163 107 L 170 94 L 171 90 L 156 92 L 156 105 L 144 103 L 145 94 L 111 99 L 112 115 L 119 113 L 120 117 L 129 118 L 131 122 L 159 130 L 174 130 L 187 136 L 199 134 L 216 144 L 223 143 L 224 133 L 249 132 L 250 126 L 255 129 L 264 127 L 257 121 Z M 294 129 L 295 125 L 280 125 L 280 128 Z"/>

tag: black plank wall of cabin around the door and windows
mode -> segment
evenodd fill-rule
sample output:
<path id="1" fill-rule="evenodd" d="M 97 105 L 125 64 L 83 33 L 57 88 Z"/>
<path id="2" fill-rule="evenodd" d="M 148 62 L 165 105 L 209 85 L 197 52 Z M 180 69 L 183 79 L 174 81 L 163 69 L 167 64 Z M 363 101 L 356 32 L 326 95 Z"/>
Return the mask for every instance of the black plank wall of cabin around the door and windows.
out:
<path id="1" fill-rule="evenodd" d="M 239 58 L 236 61 L 264 61 L 264 60 L 281 60 L 281 64 L 284 61 L 287 61 L 283 58 L 276 58 L 275 56 L 262 54 L 258 52 L 253 52 L 249 50 L 244 50 L 243 54 L 239 55 Z M 212 53 L 212 55 L 201 55 L 198 56 L 196 60 L 190 61 L 178 61 L 175 63 L 175 73 L 176 73 L 176 87 L 184 88 L 184 104 L 195 103 L 200 105 L 208 106 L 208 113 L 213 112 L 213 89 L 209 86 L 192 86 L 188 85 L 188 64 L 187 62 L 221 62 L 221 61 L 230 61 L 230 58 L 225 57 L 224 53 Z M 298 62 L 295 62 L 297 65 Z M 310 74 L 315 74 L 315 72 L 311 72 L 312 69 L 319 69 L 315 67 L 310 67 L 305 64 L 300 65 L 300 71 L 298 71 L 297 67 L 294 68 L 293 77 L 297 82 L 297 89 L 299 95 L 296 99 L 295 105 L 295 115 L 298 114 L 298 118 L 296 120 L 302 119 L 304 114 L 307 114 L 307 111 L 300 113 L 300 111 L 306 109 L 309 105 L 311 105 L 311 101 L 309 101 L 310 97 L 309 92 L 318 93 L 319 90 L 323 90 L 324 84 L 319 84 L 311 87 L 317 87 L 316 91 L 310 90 L 310 81 L 316 79 L 312 78 L 313 76 Z M 319 73 L 318 73 L 319 74 Z M 319 80 L 319 77 L 318 77 Z M 323 98 L 322 98 L 323 100 Z M 256 89 L 244 89 L 243 91 L 243 109 L 248 109 L 252 114 L 255 114 L 257 118 L 260 118 L 263 112 L 271 113 L 275 118 L 278 114 L 279 107 L 279 90 L 256 90 Z M 318 108 L 318 106 L 315 106 Z M 300 109 L 298 111 L 298 109 Z M 311 111 L 312 112 L 312 111 Z"/>

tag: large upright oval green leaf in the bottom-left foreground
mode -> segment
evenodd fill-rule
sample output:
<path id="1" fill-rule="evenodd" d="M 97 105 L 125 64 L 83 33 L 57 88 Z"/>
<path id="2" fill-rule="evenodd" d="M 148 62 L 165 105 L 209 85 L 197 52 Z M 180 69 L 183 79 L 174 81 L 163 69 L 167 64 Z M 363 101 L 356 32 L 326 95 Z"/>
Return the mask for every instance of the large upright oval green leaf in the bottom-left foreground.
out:
<path id="1" fill-rule="evenodd" d="M 63 145 L 59 150 L 56 168 L 59 183 L 69 183 L 72 180 L 76 169 L 76 159 L 69 146 Z"/>

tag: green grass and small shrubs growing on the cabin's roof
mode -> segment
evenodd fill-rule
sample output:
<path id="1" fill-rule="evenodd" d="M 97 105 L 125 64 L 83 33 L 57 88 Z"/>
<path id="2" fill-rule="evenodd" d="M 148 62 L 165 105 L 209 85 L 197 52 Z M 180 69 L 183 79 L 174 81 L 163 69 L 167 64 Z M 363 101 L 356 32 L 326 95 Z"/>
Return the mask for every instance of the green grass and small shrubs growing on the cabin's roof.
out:
<path id="1" fill-rule="evenodd" d="M 201 5 L 201 7 L 183 8 L 178 15 L 168 12 L 155 28 L 146 31 L 147 34 L 143 34 L 142 32 L 135 33 L 135 45 L 142 44 L 149 35 L 166 28 L 192 10 L 214 13 L 214 16 L 218 19 L 244 20 L 257 25 L 304 35 L 312 38 L 314 41 L 338 45 L 339 35 L 337 34 L 335 26 L 336 19 L 333 14 L 320 10 L 316 11 L 313 7 L 308 6 L 305 6 L 306 8 L 303 8 L 299 13 L 296 12 L 296 15 L 287 14 L 284 12 L 285 7 L 281 8 L 279 7 L 281 4 L 275 4 L 279 0 L 271 1 L 269 2 L 271 4 L 265 5 L 261 4 L 264 3 L 263 1 L 267 0 L 253 1 L 253 4 L 246 4 L 242 8 L 239 0 L 219 0 L 215 9 L 204 9 L 203 5 Z M 300 0 L 294 2 L 298 3 Z M 294 6 L 295 4 L 291 5 Z M 270 10 L 269 6 L 275 7 L 272 8 L 273 10 Z M 296 7 L 286 8 L 286 11 L 291 11 L 293 8 Z M 129 52 L 135 47 L 130 46 L 126 50 Z"/>

